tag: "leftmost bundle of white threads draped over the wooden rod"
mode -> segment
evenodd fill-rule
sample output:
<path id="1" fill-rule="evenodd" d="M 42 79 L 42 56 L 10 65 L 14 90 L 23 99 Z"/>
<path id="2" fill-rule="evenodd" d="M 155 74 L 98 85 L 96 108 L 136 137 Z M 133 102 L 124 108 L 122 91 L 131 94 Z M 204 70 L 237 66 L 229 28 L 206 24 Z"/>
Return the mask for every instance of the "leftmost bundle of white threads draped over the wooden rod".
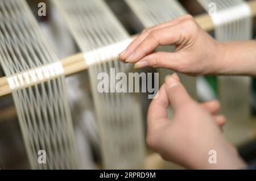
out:
<path id="1" fill-rule="evenodd" d="M 26 1 L 0 1 L 0 40 L 31 169 L 77 169 L 63 67 Z"/>

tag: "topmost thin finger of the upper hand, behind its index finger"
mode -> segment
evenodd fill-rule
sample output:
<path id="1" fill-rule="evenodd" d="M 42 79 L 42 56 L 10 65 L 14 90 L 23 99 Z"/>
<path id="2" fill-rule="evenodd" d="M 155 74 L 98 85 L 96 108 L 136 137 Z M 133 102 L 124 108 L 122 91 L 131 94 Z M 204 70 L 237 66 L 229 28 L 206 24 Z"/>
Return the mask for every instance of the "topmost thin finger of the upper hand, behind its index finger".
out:
<path id="1" fill-rule="evenodd" d="M 169 22 L 161 23 L 161 24 L 158 24 L 154 27 L 150 27 L 150 28 L 145 29 L 139 36 L 136 37 L 135 40 L 133 40 L 133 42 L 131 42 L 131 44 L 125 50 L 123 50 L 122 53 L 119 54 L 120 60 L 125 61 L 126 58 L 145 39 L 145 37 L 148 36 L 148 34 L 151 31 L 158 30 L 159 28 L 163 28 L 163 27 L 167 27 L 167 26 L 172 26 L 174 24 L 182 22 L 185 19 L 193 19 L 193 17 L 191 15 L 187 14 L 187 15 L 180 16 L 179 18 L 176 18 L 174 20 L 170 20 Z"/>

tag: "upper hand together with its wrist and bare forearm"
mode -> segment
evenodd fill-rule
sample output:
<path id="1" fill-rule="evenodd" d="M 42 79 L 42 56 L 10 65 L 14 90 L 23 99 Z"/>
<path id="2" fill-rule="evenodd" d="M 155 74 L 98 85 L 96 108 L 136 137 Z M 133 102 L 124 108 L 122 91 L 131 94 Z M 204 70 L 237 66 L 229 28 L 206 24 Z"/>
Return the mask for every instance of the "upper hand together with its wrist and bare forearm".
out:
<path id="1" fill-rule="evenodd" d="M 159 45 L 175 45 L 175 52 L 155 52 Z M 119 58 L 135 64 L 185 74 L 256 75 L 256 41 L 217 43 L 193 19 L 180 16 L 170 22 L 147 28 Z"/>

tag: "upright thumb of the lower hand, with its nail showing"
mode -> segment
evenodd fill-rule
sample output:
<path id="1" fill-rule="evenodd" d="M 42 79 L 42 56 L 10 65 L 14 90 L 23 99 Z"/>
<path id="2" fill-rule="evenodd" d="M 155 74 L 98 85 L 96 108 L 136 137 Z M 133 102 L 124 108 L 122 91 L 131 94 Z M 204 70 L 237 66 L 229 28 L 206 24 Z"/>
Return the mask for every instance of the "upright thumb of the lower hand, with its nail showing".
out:
<path id="1" fill-rule="evenodd" d="M 179 109 L 182 109 L 185 104 L 193 102 L 184 86 L 181 85 L 180 79 L 176 73 L 167 75 L 164 85 L 169 102 L 174 111 L 178 111 Z"/>

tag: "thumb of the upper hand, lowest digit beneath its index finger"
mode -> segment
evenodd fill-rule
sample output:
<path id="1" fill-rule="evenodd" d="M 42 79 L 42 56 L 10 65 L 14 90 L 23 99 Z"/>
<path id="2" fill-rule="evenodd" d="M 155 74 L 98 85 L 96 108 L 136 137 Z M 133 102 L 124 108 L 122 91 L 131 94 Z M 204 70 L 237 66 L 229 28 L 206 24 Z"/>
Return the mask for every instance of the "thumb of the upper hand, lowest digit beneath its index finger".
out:
<path id="1" fill-rule="evenodd" d="M 180 60 L 183 60 L 183 56 L 180 53 L 156 52 L 148 54 L 146 57 L 142 58 L 142 60 L 138 61 L 134 65 L 134 69 L 150 66 L 152 68 L 177 70 L 180 66 Z"/>

